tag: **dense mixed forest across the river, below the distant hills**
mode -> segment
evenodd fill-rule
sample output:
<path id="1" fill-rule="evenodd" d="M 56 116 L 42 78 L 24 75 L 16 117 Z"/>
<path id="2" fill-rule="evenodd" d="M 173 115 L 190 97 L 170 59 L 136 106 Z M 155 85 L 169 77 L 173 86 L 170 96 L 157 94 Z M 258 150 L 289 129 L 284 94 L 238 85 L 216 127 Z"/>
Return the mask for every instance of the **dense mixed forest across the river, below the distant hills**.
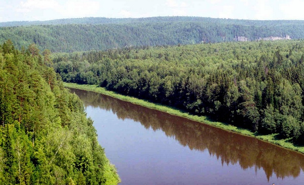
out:
<path id="1" fill-rule="evenodd" d="M 99 84 L 303 143 L 304 42 L 258 41 L 56 54 L 66 82 Z"/>

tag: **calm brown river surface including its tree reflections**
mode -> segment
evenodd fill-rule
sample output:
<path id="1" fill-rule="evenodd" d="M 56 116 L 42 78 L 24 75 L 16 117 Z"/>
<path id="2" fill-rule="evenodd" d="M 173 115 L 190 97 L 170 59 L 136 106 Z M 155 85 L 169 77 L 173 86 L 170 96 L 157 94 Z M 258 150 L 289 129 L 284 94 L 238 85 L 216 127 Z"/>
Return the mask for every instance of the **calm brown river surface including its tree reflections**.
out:
<path id="1" fill-rule="evenodd" d="M 71 89 L 121 184 L 304 184 L 304 155 L 233 132 Z"/>

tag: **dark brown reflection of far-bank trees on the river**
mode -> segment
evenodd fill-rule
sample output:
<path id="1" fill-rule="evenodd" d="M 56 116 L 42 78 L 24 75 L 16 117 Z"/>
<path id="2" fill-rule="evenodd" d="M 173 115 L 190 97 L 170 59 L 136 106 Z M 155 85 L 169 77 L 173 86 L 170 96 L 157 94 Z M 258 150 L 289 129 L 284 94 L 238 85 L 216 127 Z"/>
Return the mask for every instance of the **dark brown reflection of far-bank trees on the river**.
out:
<path id="1" fill-rule="evenodd" d="M 304 155 L 281 147 L 225 131 L 185 118 L 137 106 L 95 92 L 71 89 L 85 105 L 112 111 L 120 119 L 140 122 L 146 129 L 161 129 L 191 150 L 205 151 L 221 160 L 222 165 L 239 164 L 242 169 L 263 169 L 268 180 L 297 177 L 304 167 Z"/>

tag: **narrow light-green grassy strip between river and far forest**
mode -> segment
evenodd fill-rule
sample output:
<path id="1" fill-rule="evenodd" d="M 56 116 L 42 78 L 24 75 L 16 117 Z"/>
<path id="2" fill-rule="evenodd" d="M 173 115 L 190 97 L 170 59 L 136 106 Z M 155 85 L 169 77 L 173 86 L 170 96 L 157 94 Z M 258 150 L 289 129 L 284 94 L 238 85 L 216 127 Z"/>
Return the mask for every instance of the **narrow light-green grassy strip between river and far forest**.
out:
<path id="1" fill-rule="evenodd" d="M 250 130 L 232 126 L 227 123 L 210 120 L 206 116 L 191 115 L 191 114 L 188 114 L 187 112 L 183 112 L 181 110 L 178 110 L 178 109 L 175 109 L 172 107 L 151 103 L 146 100 L 140 100 L 140 99 L 133 98 L 133 97 L 120 95 L 117 92 L 109 91 L 103 87 L 97 87 L 96 85 L 80 85 L 80 84 L 75 84 L 75 83 L 64 83 L 64 86 L 98 92 L 100 94 L 115 97 L 120 100 L 128 101 L 133 104 L 140 105 L 140 106 L 148 107 L 151 109 L 157 109 L 159 111 L 163 111 L 163 112 L 167 112 L 172 115 L 181 116 L 181 117 L 185 117 L 185 118 L 192 119 L 195 121 L 199 121 L 199 122 L 209 124 L 212 126 L 216 126 L 216 127 L 219 127 L 219 128 L 225 129 L 225 130 L 234 131 L 234 132 L 237 132 L 240 134 L 253 136 L 253 137 L 259 138 L 260 140 L 267 141 L 269 143 L 276 144 L 281 147 L 291 149 L 291 150 L 294 150 L 294 151 L 297 151 L 300 153 L 304 153 L 304 146 L 296 146 L 295 144 L 290 143 L 288 138 L 286 138 L 284 140 L 282 140 L 282 139 L 280 140 L 280 139 L 278 139 L 278 134 L 260 135 L 260 134 L 257 134 L 256 132 L 251 132 Z"/>

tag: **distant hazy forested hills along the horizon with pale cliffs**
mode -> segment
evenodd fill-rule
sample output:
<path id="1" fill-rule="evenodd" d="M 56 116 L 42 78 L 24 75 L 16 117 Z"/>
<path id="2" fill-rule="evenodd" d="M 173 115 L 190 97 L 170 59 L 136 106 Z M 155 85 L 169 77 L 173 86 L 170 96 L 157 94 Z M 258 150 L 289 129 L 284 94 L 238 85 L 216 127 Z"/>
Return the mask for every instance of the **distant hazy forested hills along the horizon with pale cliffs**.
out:
<path id="1" fill-rule="evenodd" d="M 40 22 L 47 25 L 17 26 L 23 23 L 16 22 L 14 27 L 1 27 L 0 42 L 10 39 L 18 49 L 35 43 L 40 50 L 74 52 L 130 46 L 304 38 L 304 21 L 250 21 L 199 17 L 82 18 Z"/>

